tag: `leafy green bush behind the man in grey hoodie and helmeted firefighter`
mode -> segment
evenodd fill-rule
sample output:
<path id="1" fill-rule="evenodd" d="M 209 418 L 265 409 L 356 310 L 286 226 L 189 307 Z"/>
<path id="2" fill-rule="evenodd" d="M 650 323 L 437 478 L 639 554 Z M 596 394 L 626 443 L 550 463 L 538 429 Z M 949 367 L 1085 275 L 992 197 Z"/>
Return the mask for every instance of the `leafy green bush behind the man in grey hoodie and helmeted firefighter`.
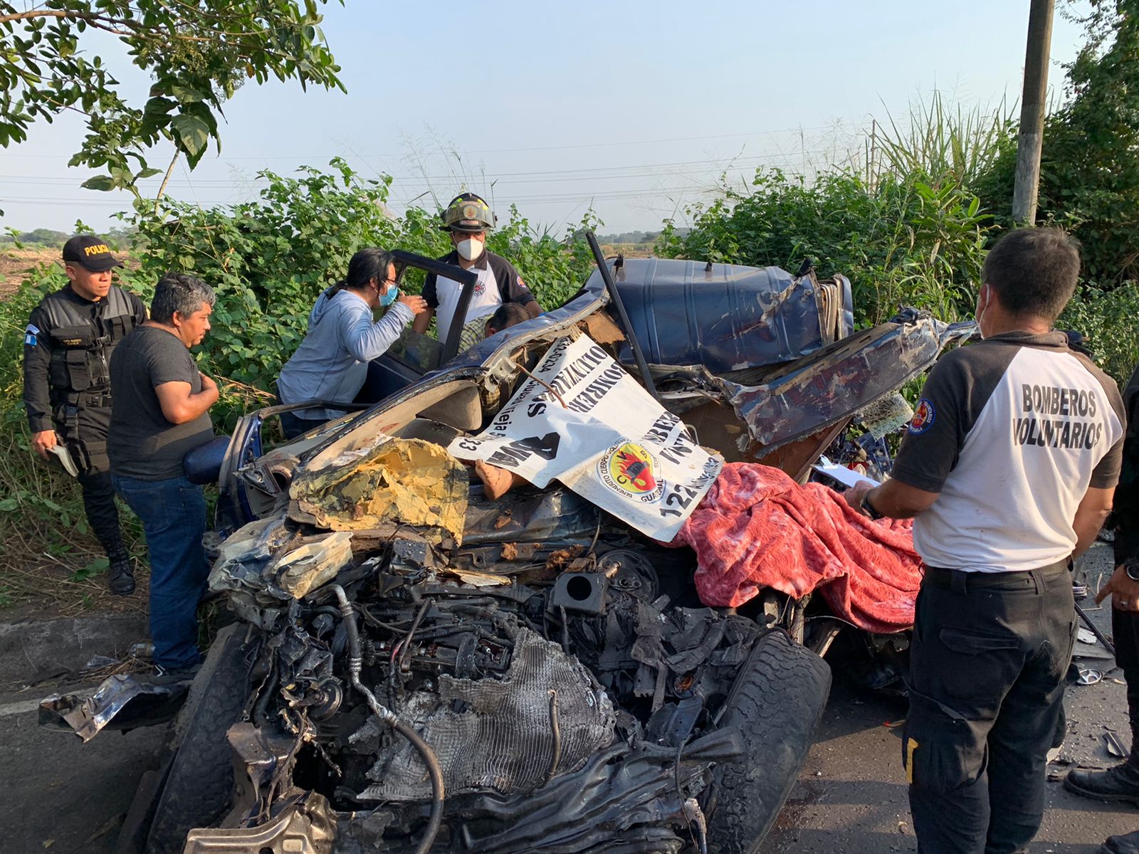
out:
<path id="1" fill-rule="evenodd" d="M 281 363 L 304 337 L 313 302 L 343 278 L 357 249 L 399 247 L 431 257 L 451 249 L 434 213 L 412 208 L 392 216 L 386 181 L 361 180 L 341 159 L 331 166 L 305 167 L 295 178 L 262 172 L 268 186 L 256 202 L 208 210 L 170 202 L 163 216 L 134 220 L 144 248 L 132 289 L 148 298 L 171 269 L 210 282 L 218 305 L 199 360 L 203 370 L 236 380 L 245 394 L 273 392 Z M 592 222 L 587 216 L 584 224 Z M 487 246 L 510 257 L 546 307 L 576 291 L 590 263 L 583 241 L 563 244 L 548 230 L 535 231 L 513 208 Z M 418 291 L 421 281 L 405 287 Z M 230 418 L 223 411 L 220 420 Z"/>

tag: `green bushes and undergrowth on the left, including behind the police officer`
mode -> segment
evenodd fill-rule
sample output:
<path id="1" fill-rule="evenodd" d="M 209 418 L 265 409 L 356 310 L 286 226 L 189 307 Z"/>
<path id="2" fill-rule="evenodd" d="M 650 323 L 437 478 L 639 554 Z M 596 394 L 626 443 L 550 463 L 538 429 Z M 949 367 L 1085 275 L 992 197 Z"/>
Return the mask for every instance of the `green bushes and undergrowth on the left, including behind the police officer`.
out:
<path id="1" fill-rule="evenodd" d="M 388 179 L 361 180 L 342 159 L 330 166 L 304 167 L 292 176 L 262 172 L 267 186 L 255 202 L 202 208 L 166 200 L 158 215 L 139 205 L 133 215 L 121 216 L 130 225 L 125 233 L 139 263 L 120 271 L 118 285 L 149 304 L 158 278 L 180 270 L 218 294 L 213 328 L 195 355 L 219 379 L 222 397 L 211 412 L 219 430 L 231 428 L 240 413 L 273 402 L 273 381 L 303 338 L 313 302 L 344 276 L 353 253 L 383 246 L 437 257 L 451 249 L 434 213 L 412 208 L 401 217 L 391 214 L 385 206 Z M 503 219 L 506 224 L 487 240 L 490 249 L 515 264 L 544 307 L 572 296 L 592 264 L 581 229 L 559 240 L 516 208 Z M 580 227 L 598 224 L 589 213 Z M 105 564 L 87 532 L 79 488 L 31 452 L 22 403 L 27 317 L 66 281 L 57 264 L 47 264 L 0 303 L 0 477 L 10 485 L 0 499 L 0 561 L 8 567 L 0 569 L 0 602 L 21 597 L 24 570 L 42 563 L 44 552 L 79 577 Z M 405 286 L 417 291 L 421 281 L 409 276 Z M 132 540 L 137 534 L 129 532 Z"/>

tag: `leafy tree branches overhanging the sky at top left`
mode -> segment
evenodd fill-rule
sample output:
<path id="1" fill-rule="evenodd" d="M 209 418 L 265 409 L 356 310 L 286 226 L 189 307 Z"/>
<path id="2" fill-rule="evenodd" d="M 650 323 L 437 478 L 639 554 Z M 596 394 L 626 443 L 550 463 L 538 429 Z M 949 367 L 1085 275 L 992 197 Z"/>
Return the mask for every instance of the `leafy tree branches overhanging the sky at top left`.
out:
<path id="1" fill-rule="evenodd" d="M 326 1 L 0 0 L 0 147 L 74 110 L 88 136 L 71 165 L 105 173 L 84 187 L 136 191 L 136 181 L 161 173 L 144 153 L 162 140 L 192 169 L 210 140 L 220 143 L 222 105 L 245 82 L 344 88 L 319 26 Z M 83 50 L 92 32 L 117 35 L 151 80 L 144 105 L 128 104 L 101 57 Z"/>

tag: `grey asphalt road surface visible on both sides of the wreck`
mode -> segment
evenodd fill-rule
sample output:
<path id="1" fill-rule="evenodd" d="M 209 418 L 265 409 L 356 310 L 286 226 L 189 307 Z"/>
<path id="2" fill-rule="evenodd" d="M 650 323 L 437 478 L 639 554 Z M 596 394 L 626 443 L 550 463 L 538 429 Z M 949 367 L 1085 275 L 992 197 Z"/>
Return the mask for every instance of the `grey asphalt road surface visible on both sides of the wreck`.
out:
<path id="1" fill-rule="evenodd" d="M 1109 568 L 1109 549 L 1093 549 L 1089 559 L 1092 583 Z M 1091 616 L 1109 634 L 1106 608 Z M 1098 647 L 1080 647 L 1087 655 L 1105 655 Z M 1107 671 L 1112 662 L 1101 659 L 1099 666 Z M 1068 689 L 1068 738 L 1062 758 L 1084 765 L 1114 763 L 1104 747 L 1105 728 L 1116 730 L 1123 744 L 1129 744 L 1124 687 L 1112 681 L 1118 675 L 1108 672 L 1098 684 Z M 0 791 L 6 795 L 0 852 L 109 854 L 138 780 L 162 742 L 163 728 L 125 736 L 104 732 L 83 745 L 75 736 L 38 725 L 36 701 L 46 692 L 0 692 Z M 904 715 L 904 701 L 836 679 L 806 766 L 764 843 L 764 854 L 916 851 L 900 730 L 884 725 Z M 1066 767 L 1051 765 L 1049 770 L 1063 773 Z M 1139 810 L 1084 800 L 1051 782 L 1044 826 L 1030 851 L 1092 854 L 1106 836 L 1136 829 Z"/>

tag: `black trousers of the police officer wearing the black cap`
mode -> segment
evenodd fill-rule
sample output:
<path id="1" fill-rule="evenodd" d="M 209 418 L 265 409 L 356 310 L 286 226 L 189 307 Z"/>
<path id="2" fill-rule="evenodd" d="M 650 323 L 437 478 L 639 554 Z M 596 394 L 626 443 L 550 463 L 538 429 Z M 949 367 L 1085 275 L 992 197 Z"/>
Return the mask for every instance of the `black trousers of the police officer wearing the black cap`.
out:
<path id="1" fill-rule="evenodd" d="M 67 446 L 83 490 L 83 511 L 91 533 L 109 553 L 121 541 L 118 508 L 110 485 L 110 460 L 107 458 L 109 407 L 82 407 L 77 412 L 64 410 L 56 422 L 56 433 Z"/>

